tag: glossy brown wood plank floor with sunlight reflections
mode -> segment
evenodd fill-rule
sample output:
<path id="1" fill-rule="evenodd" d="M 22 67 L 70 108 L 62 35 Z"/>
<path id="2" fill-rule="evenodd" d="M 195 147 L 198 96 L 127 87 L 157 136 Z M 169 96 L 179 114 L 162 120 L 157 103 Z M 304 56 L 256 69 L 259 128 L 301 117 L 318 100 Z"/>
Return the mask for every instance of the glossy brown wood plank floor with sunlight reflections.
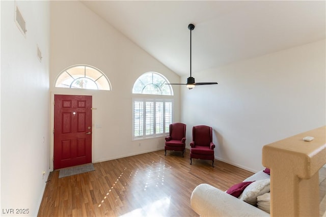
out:
<path id="1" fill-rule="evenodd" d="M 38 216 L 199 216 L 190 206 L 198 184 L 225 191 L 253 174 L 220 161 L 214 168 L 204 160 L 190 165 L 188 156 L 188 150 L 184 158 L 159 150 L 96 163 L 95 171 L 60 179 L 53 171 Z"/>

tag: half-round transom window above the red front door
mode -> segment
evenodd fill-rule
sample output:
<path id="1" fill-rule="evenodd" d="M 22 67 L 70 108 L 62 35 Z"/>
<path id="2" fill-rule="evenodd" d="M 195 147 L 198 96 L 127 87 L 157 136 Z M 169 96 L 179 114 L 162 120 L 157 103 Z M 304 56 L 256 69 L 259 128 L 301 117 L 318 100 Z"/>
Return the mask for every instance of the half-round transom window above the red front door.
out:
<path id="1" fill-rule="evenodd" d="M 86 65 L 75 65 L 63 70 L 56 87 L 111 90 L 110 81 L 99 69 Z"/>

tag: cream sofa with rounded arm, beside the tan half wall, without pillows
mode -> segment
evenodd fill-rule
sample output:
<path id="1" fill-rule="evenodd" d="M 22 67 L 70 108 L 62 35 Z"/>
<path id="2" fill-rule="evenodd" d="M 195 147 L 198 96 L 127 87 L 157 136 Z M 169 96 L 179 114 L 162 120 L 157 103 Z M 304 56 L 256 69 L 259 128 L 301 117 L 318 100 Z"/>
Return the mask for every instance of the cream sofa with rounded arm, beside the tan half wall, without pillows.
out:
<path id="1" fill-rule="evenodd" d="M 266 179 L 269 179 L 269 175 L 262 170 L 243 180 L 243 182 L 256 182 Z M 200 184 L 194 189 L 191 196 L 191 206 L 200 216 L 269 216 L 269 213 L 262 209 L 209 184 Z"/>

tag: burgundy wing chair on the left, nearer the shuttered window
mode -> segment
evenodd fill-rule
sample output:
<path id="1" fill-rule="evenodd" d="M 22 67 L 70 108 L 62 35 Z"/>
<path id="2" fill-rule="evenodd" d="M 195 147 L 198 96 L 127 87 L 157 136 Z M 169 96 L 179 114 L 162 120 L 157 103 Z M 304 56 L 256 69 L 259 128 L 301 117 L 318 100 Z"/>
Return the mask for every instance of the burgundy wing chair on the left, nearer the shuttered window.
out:
<path id="1" fill-rule="evenodd" d="M 170 136 L 165 138 L 165 155 L 167 150 L 182 151 L 182 158 L 185 151 L 185 127 L 184 123 L 171 123 Z"/>

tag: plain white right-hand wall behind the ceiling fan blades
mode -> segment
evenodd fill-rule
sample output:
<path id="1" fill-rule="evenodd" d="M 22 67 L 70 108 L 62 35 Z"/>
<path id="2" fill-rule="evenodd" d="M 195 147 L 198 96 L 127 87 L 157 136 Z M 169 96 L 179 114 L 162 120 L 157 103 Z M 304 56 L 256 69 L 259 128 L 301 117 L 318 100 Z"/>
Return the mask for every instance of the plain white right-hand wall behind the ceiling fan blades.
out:
<path id="1" fill-rule="evenodd" d="M 325 72 L 322 40 L 194 73 L 219 84 L 181 89 L 187 141 L 211 126 L 216 159 L 258 171 L 263 145 L 325 125 Z"/>

